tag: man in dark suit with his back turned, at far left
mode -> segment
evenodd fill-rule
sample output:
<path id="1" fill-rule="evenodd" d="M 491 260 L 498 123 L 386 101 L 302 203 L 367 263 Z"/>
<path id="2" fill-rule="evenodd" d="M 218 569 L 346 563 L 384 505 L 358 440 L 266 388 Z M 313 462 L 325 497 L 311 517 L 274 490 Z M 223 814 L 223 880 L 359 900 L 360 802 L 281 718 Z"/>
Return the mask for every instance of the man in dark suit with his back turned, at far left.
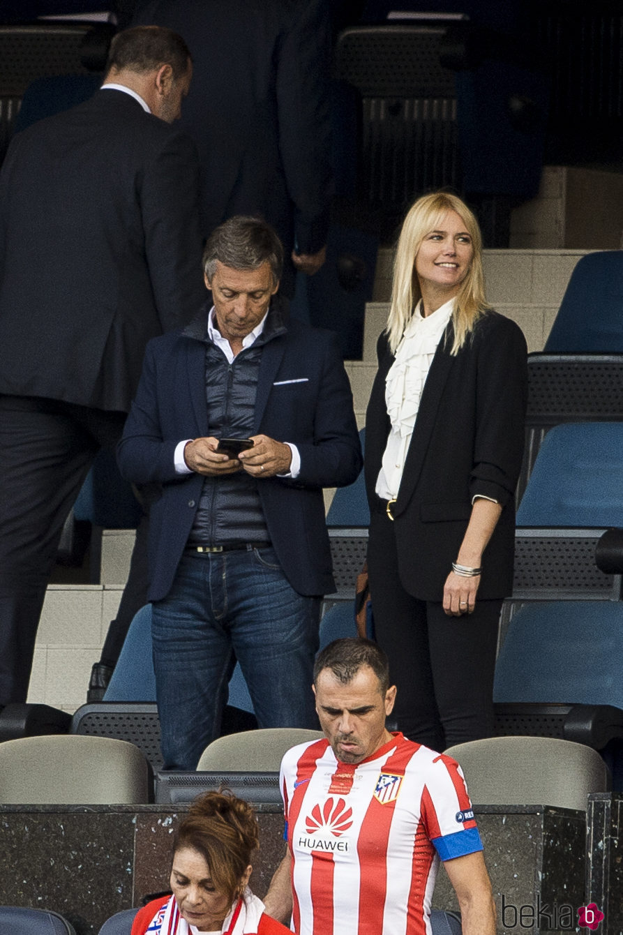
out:
<path id="1" fill-rule="evenodd" d="M 202 298 L 195 146 L 170 124 L 181 36 L 113 40 L 103 87 L 11 143 L 0 176 L 0 706 L 26 698 L 65 517 L 113 448 L 147 341 Z"/>

